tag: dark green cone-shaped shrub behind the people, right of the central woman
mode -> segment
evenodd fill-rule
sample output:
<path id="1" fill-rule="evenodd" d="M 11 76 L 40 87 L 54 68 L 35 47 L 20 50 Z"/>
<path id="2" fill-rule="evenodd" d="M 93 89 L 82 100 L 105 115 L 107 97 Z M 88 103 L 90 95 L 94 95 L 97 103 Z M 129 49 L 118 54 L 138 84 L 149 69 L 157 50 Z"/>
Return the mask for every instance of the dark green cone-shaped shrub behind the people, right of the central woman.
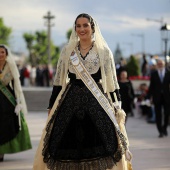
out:
<path id="1" fill-rule="evenodd" d="M 131 55 L 129 61 L 126 65 L 129 76 L 139 76 L 140 75 L 140 67 L 138 60 Z"/>

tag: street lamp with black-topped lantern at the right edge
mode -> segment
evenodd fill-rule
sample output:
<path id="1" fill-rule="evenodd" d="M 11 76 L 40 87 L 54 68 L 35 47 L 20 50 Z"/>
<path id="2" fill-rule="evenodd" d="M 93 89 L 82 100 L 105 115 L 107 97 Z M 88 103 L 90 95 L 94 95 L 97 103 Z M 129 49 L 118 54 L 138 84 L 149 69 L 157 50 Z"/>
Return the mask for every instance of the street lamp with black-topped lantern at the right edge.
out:
<path id="1" fill-rule="evenodd" d="M 161 37 L 162 37 L 162 40 L 164 41 L 165 43 L 165 51 L 164 51 L 164 57 L 165 57 L 165 62 L 167 64 L 167 60 L 168 60 L 168 56 L 167 56 L 167 45 L 168 45 L 168 40 L 170 38 L 170 34 L 169 34 L 169 31 L 170 31 L 170 25 L 168 24 L 165 24 L 161 27 Z"/>

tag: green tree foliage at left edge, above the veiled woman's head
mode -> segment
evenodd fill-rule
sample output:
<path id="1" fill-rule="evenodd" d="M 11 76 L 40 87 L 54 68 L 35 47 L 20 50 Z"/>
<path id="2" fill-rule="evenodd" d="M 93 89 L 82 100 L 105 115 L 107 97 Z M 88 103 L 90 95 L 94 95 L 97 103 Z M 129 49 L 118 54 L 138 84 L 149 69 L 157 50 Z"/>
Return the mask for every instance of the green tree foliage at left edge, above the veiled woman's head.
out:
<path id="1" fill-rule="evenodd" d="M 12 29 L 4 25 L 3 18 L 0 18 L 0 44 L 9 45 L 9 37 Z"/>

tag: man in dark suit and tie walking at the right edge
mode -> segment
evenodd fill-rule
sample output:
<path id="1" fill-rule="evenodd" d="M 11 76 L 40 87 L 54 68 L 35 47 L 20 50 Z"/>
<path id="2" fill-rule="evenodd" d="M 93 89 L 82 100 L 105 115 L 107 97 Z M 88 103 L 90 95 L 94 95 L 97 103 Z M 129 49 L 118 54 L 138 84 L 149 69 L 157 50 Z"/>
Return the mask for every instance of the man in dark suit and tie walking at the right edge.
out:
<path id="1" fill-rule="evenodd" d="M 157 70 L 152 73 L 148 97 L 152 99 L 155 113 L 158 137 L 168 135 L 167 127 L 170 115 L 170 72 L 165 68 L 165 62 L 157 60 Z"/>

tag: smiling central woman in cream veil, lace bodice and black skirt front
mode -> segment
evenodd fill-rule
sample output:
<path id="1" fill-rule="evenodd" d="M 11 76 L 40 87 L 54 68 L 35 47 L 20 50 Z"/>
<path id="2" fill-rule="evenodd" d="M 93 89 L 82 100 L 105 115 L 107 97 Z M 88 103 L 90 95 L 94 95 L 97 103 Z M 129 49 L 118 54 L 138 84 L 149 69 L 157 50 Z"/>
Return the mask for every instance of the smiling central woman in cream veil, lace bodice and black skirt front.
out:
<path id="1" fill-rule="evenodd" d="M 77 60 L 87 73 L 84 76 L 72 63 Z M 97 96 L 103 95 L 100 99 L 106 102 L 94 96 L 83 77 L 91 79 L 91 85 L 99 92 Z M 119 115 L 123 135 L 109 117 L 112 115 L 101 106 L 108 101 L 112 105 L 113 92 L 119 96 L 118 89 L 113 56 L 97 23 L 90 15 L 80 14 L 58 61 L 47 125 L 33 169 L 126 170 L 124 153 L 128 151 L 128 141 L 122 123 L 124 114 Z M 129 152 L 127 155 L 130 156 Z"/>

